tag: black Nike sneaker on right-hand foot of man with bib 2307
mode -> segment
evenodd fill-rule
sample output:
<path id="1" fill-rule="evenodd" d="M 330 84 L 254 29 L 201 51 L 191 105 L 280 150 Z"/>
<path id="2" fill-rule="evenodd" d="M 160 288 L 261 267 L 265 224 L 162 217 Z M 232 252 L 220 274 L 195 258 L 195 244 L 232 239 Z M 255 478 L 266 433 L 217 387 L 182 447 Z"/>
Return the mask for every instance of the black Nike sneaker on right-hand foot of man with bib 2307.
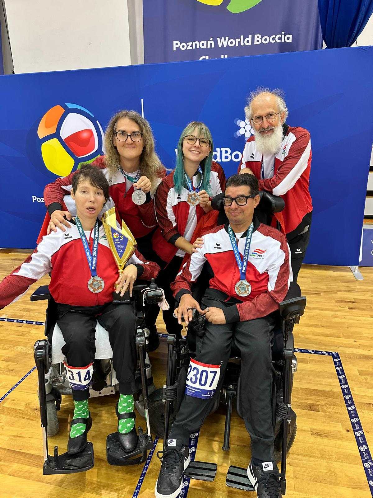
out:
<path id="1" fill-rule="evenodd" d="M 258 498 L 282 498 L 280 491 L 280 476 L 276 462 L 263 462 L 254 465 L 250 460 L 247 477 L 255 488 Z"/>

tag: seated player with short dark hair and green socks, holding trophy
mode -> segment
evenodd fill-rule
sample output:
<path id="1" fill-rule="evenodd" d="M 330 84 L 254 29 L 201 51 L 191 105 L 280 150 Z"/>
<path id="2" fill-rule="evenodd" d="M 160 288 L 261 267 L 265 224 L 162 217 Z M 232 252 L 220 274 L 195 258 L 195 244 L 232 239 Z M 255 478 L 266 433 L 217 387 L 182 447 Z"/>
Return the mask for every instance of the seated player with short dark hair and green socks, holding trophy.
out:
<path id="1" fill-rule="evenodd" d="M 51 272 L 49 290 L 57 304 L 57 324 L 65 345 L 65 368 L 73 391 L 74 416 L 68 441 L 70 455 L 87 445 L 92 426 L 88 407 L 95 354 L 96 322 L 108 331 L 113 368 L 119 382 L 118 439 L 124 451 L 137 444 L 134 427 L 134 373 L 136 368 L 136 317 L 129 304 L 112 304 L 114 283 L 121 295 L 132 293 L 136 278 L 156 277 L 159 266 L 138 252 L 128 260 L 117 278 L 117 267 L 97 216 L 109 197 L 103 173 L 84 165 L 73 178 L 72 199 L 77 216 L 68 231 L 51 232 L 34 252 L 0 283 L 0 309 L 19 299 L 39 278 Z"/>

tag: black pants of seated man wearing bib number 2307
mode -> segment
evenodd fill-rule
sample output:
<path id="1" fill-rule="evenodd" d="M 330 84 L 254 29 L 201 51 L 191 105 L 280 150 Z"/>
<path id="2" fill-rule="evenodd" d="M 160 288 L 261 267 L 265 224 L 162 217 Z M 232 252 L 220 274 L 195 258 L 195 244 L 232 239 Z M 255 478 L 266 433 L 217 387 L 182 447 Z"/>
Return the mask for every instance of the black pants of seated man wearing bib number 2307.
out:
<path id="1" fill-rule="evenodd" d="M 224 302 L 219 291 L 207 289 L 203 308 L 215 306 L 224 309 L 232 303 Z M 197 343 L 195 360 L 219 365 L 220 378 L 215 396 L 218 395 L 231 346 L 241 352 L 241 399 L 246 429 L 251 437 L 253 456 L 259 460 L 274 460 L 274 417 L 272 366 L 273 328 L 276 320 L 268 315 L 245 322 L 213 325 L 206 322 L 205 335 Z M 233 341 L 233 343 L 232 343 Z M 188 444 L 189 434 L 198 431 L 208 415 L 214 398 L 200 399 L 184 394 L 180 410 L 169 438 Z"/>

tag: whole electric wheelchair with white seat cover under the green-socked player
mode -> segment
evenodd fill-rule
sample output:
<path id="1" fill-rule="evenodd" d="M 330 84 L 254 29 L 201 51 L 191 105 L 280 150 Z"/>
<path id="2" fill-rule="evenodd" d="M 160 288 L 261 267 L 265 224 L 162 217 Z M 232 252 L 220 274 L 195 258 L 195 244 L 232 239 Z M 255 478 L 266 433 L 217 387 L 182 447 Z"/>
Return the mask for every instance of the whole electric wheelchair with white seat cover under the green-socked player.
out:
<path id="1" fill-rule="evenodd" d="M 40 404 L 40 419 L 43 435 L 44 464 L 43 474 L 70 474 L 91 469 L 94 465 L 93 444 L 79 454 L 71 456 L 67 452 L 59 455 L 55 446 L 54 455 L 48 454 L 48 435 L 57 434 L 59 430 L 57 411 L 61 406 L 62 394 L 72 394 L 69 380 L 64 371 L 64 355 L 61 348 L 65 342 L 62 332 L 56 323 L 57 304 L 49 293 L 48 286 L 40 286 L 30 297 L 31 301 L 48 300 L 45 319 L 45 336 L 47 339 L 36 341 L 34 358 L 38 371 L 38 394 Z M 149 287 L 144 283 L 133 286 L 132 297 L 125 292 L 121 303 L 132 304 L 137 317 L 137 332 L 135 335 L 138 352 L 138 366 L 135 374 L 136 393 L 135 406 L 142 416 L 145 416 L 147 430 L 145 433 L 139 427 L 137 447 L 125 453 L 119 444 L 116 433 L 109 434 L 106 439 L 106 458 L 111 465 L 133 465 L 144 462 L 147 451 L 153 447 L 149 425 L 149 393 L 155 391 L 152 368 L 147 353 L 149 329 L 144 328 L 144 305 L 160 303 L 163 299 L 162 290 L 157 287 L 152 278 Z M 120 306 L 120 304 L 118 304 Z M 112 366 L 112 349 L 106 330 L 97 322 L 95 328 L 96 353 L 93 362 L 93 381 L 90 395 L 103 396 L 114 394 L 119 390 L 115 371 Z"/>

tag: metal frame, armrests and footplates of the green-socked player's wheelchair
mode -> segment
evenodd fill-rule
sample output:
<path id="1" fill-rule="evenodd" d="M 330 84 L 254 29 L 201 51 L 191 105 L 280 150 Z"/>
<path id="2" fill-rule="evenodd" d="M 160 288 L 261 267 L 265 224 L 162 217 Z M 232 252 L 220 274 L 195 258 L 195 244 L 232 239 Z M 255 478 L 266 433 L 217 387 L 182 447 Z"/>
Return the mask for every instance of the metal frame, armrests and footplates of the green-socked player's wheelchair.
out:
<path id="1" fill-rule="evenodd" d="M 141 380 L 141 390 L 142 390 L 142 403 L 143 410 L 146 419 L 147 432 L 143 432 L 141 427 L 139 427 L 139 438 L 138 445 L 130 453 L 124 453 L 121 450 L 117 438 L 115 438 L 116 433 L 110 434 L 106 440 L 106 457 L 108 463 L 111 465 L 133 465 L 137 463 L 144 462 L 147 458 L 147 451 L 153 447 L 153 440 L 150 432 L 150 420 L 149 420 L 149 393 L 148 384 L 153 382 L 153 377 L 151 376 L 151 366 L 147 363 L 148 356 L 146 353 L 146 336 L 149 335 L 148 329 L 142 329 L 144 314 L 142 312 L 142 291 L 147 288 L 145 284 L 138 284 L 133 286 L 133 298 L 129 297 L 129 292 L 127 299 L 123 300 L 123 303 L 134 302 L 135 313 L 139 320 L 142 320 L 140 326 L 137 327 L 136 332 L 136 349 L 138 351 L 139 369 L 136 371 L 136 378 L 140 377 Z M 162 300 L 162 292 L 157 290 L 157 286 L 152 279 L 150 284 L 150 292 L 147 294 L 147 302 L 150 304 L 158 303 Z M 48 307 L 46 310 L 46 321 L 45 321 L 45 336 L 48 336 L 53 332 L 54 326 L 56 324 L 55 318 L 51 318 L 49 313 L 53 313 L 56 310 L 56 303 L 50 295 L 48 286 L 40 286 L 36 289 L 30 297 L 31 301 L 38 301 L 48 299 Z M 120 304 L 118 304 L 120 306 Z M 48 316 L 49 315 L 49 316 Z M 147 332 L 147 333 L 145 333 Z M 94 454 L 93 454 L 93 444 L 88 443 L 87 447 L 79 454 L 70 456 L 67 452 L 59 455 L 57 446 L 54 447 L 54 455 L 50 456 L 48 453 L 48 414 L 47 414 L 47 402 L 53 401 L 56 403 L 56 410 L 60 409 L 61 405 L 61 392 L 58 389 L 59 386 L 64 386 L 65 378 L 61 381 L 59 377 L 64 375 L 60 372 L 60 375 L 52 376 L 51 373 L 55 368 L 52 365 L 51 359 L 51 344 L 47 339 L 36 341 L 34 345 L 34 358 L 35 364 L 38 371 L 38 392 L 39 392 L 39 405 L 40 405 L 40 421 L 42 427 L 43 436 L 43 450 L 44 450 L 44 464 L 43 464 L 43 474 L 71 474 L 75 472 L 84 472 L 91 469 L 94 465 Z M 106 388 L 101 389 L 97 395 L 113 394 L 117 391 L 117 383 L 115 372 L 112 369 L 112 360 L 109 360 L 110 372 L 106 374 L 106 379 L 110 376 L 111 383 L 106 386 Z M 149 360 L 148 360 L 149 362 Z M 60 368 L 61 370 L 61 368 Z M 149 375 L 150 373 L 150 375 Z M 65 375 L 64 375 L 65 376 Z M 57 382 L 53 384 L 54 378 L 57 378 Z M 113 382 L 113 379 L 114 382 Z M 48 392 L 46 390 L 48 389 Z M 70 394 L 71 389 L 65 386 L 61 389 L 63 394 Z M 69 392 L 70 391 L 70 392 Z M 95 393 L 95 391 L 90 390 L 90 392 Z M 94 395 L 94 394 L 93 394 Z"/>

